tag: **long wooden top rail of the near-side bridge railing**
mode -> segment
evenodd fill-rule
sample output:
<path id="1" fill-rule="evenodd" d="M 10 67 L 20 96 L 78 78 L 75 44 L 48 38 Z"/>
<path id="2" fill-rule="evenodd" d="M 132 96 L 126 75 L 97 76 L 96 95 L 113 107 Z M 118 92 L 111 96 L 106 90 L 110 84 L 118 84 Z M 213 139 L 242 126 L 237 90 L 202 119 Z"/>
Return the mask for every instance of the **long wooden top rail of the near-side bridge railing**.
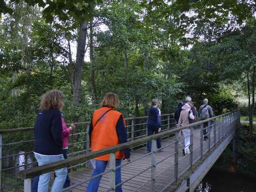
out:
<path id="1" fill-rule="evenodd" d="M 93 159 L 95 157 L 115 153 L 116 151 L 120 151 L 120 150 L 129 148 L 129 147 L 134 147 L 136 145 L 144 144 L 146 141 L 155 140 L 158 137 L 172 135 L 175 132 L 181 131 L 183 129 L 187 129 L 187 128 L 192 127 L 192 126 L 201 125 L 204 122 L 213 121 L 213 120 L 218 119 L 219 117 L 223 117 L 225 115 L 229 115 L 229 114 L 232 114 L 232 113 L 237 112 L 237 111 L 239 111 L 239 110 L 236 110 L 236 111 L 233 111 L 233 112 L 228 112 L 228 113 L 223 114 L 223 115 L 211 117 L 210 119 L 195 122 L 195 123 L 190 124 L 190 125 L 185 125 L 185 126 L 182 126 L 182 127 L 179 127 L 179 128 L 174 128 L 174 129 L 171 129 L 171 130 L 163 131 L 163 132 L 160 132 L 160 133 L 155 134 L 155 135 L 151 135 L 151 136 L 147 136 L 147 137 L 137 139 L 137 140 L 134 140 L 134 141 L 126 142 L 124 144 L 116 145 L 114 147 L 109 147 L 107 149 L 89 152 L 88 154 L 85 154 L 85 155 L 78 155 L 78 156 L 75 156 L 75 157 L 70 157 L 69 159 L 66 159 L 66 160 L 61 160 L 61 161 L 57 161 L 55 163 L 38 166 L 38 167 L 33 168 L 33 169 L 22 170 L 22 171 L 18 172 L 18 178 L 19 179 L 31 179 L 31 178 L 33 178 L 37 175 L 41 175 L 41 174 L 44 174 L 44 173 L 48 173 L 50 171 L 65 168 L 67 166 L 75 165 L 77 163 L 81 163 L 82 161 L 87 161 L 87 160 Z"/>

